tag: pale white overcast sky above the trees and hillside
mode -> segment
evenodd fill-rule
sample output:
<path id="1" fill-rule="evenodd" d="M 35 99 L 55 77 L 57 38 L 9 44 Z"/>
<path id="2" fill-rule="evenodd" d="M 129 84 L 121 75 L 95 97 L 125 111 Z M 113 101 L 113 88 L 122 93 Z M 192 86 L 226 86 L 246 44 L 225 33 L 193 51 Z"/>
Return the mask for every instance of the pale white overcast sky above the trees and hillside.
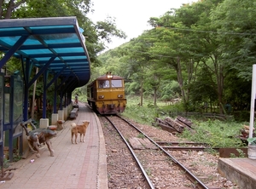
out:
<path id="1" fill-rule="evenodd" d="M 127 35 L 126 39 L 113 37 L 113 42 L 107 44 L 109 49 L 113 49 L 150 29 L 147 22 L 150 17 L 160 17 L 166 11 L 180 8 L 183 3 L 191 3 L 192 0 L 92 0 L 92 2 L 95 12 L 88 14 L 88 17 L 94 23 L 105 20 L 109 15 L 115 18 L 118 29 L 125 31 Z"/>

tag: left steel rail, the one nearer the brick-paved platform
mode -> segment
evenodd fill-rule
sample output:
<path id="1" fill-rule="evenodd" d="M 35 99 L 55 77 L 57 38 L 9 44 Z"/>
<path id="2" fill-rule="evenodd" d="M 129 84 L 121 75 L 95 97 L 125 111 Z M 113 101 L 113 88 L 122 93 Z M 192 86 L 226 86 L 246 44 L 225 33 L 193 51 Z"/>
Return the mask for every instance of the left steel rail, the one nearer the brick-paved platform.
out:
<path id="1" fill-rule="evenodd" d="M 113 125 L 113 128 L 117 130 L 117 132 L 119 133 L 119 135 L 121 136 L 121 138 L 125 141 L 125 144 L 126 144 L 126 146 L 129 148 L 129 150 L 130 150 L 130 152 L 131 152 L 133 158 L 135 158 L 135 160 L 136 160 L 136 162 L 137 162 L 139 168 L 142 170 L 143 175 L 144 175 L 145 179 L 147 180 L 148 186 L 149 186 L 151 189 L 154 189 L 154 185 L 153 185 L 153 183 L 151 182 L 151 180 L 148 178 L 148 175 L 147 175 L 145 169 L 143 169 L 143 165 L 140 163 L 139 159 L 137 158 L 135 152 L 133 152 L 133 150 L 132 150 L 131 146 L 129 145 L 129 143 L 125 140 L 125 137 L 119 132 L 119 129 L 117 129 L 117 128 L 114 126 L 113 122 L 111 122 L 111 120 L 110 120 L 108 117 L 105 116 L 105 118 L 108 119 L 108 122 Z"/>

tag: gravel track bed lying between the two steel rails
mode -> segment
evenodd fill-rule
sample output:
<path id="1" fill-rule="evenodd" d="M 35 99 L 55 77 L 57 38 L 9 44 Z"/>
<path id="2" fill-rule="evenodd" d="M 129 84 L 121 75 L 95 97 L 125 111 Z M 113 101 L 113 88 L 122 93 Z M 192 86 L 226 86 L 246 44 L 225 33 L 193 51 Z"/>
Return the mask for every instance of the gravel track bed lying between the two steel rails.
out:
<path id="1" fill-rule="evenodd" d="M 129 141 L 127 142 L 128 145 L 131 144 L 131 153 L 134 153 L 135 159 L 139 161 L 137 164 L 143 166 L 143 172 L 147 174 L 145 178 L 148 176 L 148 180 L 145 179 L 149 183 L 148 186 L 153 185 L 150 188 L 208 188 L 189 169 L 186 169 L 182 163 L 179 163 L 176 158 L 172 157 L 169 152 L 166 152 L 164 148 L 135 125 L 119 116 L 105 118 L 115 125 L 115 130 L 118 130 L 123 140 Z M 107 121 L 105 124 L 107 125 Z M 142 142 L 143 145 L 140 146 L 137 144 L 137 140 L 145 140 L 145 142 Z M 162 179 L 163 175 L 165 175 L 165 179 Z"/>

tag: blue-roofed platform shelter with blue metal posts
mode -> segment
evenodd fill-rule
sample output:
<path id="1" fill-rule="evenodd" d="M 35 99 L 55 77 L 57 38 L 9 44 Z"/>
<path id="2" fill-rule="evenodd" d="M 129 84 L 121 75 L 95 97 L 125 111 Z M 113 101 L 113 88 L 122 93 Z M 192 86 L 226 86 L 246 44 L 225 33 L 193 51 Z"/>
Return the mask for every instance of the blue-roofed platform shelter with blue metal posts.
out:
<path id="1" fill-rule="evenodd" d="M 90 80 L 90 58 L 85 46 L 84 30 L 75 16 L 0 20 L 0 166 L 3 168 L 8 139 L 9 161 L 14 146 L 22 154 L 20 123 L 28 115 L 29 89 L 40 77 L 44 81 L 43 114 L 40 126 L 49 126 L 46 115 L 47 90 L 54 88 L 51 124 L 67 119 L 72 92 Z M 19 60 L 21 71 L 7 76 L 6 64 Z M 37 73 L 32 72 L 38 69 Z M 57 97 L 60 106 L 57 108 Z M 15 141 L 15 144 L 14 144 Z"/>

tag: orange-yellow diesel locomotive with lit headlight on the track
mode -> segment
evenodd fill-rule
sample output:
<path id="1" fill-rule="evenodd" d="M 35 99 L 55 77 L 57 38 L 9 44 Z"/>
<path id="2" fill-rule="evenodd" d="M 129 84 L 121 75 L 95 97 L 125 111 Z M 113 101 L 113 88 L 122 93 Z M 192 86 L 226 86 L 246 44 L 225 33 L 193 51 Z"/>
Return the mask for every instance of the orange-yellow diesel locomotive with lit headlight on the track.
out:
<path id="1" fill-rule="evenodd" d="M 98 77 L 87 86 L 87 101 L 89 106 L 100 114 L 117 114 L 125 111 L 125 82 L 123 77 Z"/>

